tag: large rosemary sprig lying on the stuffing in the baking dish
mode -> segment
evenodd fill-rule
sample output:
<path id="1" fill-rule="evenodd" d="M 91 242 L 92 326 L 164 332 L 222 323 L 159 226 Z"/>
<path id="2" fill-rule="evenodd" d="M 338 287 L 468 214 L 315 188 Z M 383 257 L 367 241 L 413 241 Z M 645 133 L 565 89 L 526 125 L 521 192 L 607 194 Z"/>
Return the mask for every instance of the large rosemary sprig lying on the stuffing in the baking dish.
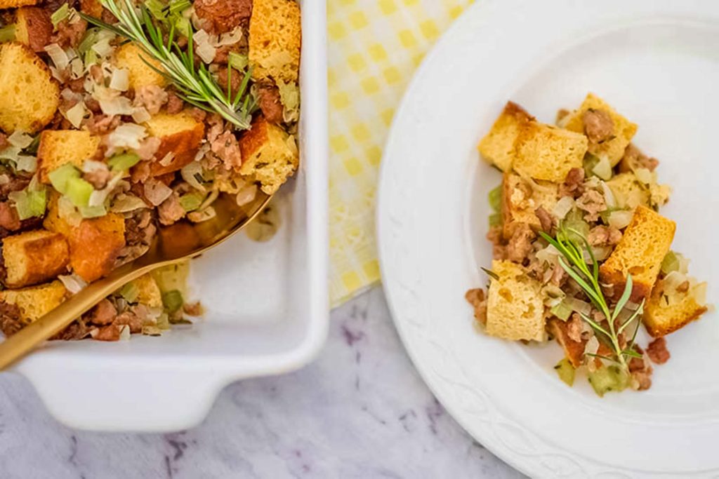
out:
<path id="1" fill-rule="evenodd" d="M 250 71 L 244 73 L 242 85 L 234 96 L 229 88 L 224 92 L 206 65 L 195 65 L 191 24 L 188 24 L 186 32 L 188 47 L 183 50 L 175 41 L 174 24 L 165 32 L 162 25 L 152 19 L 145 4 L 141 3 L 135 7 L 132 0 L 100 0 L 100 3 L 117 19 L 116 24 L 107 24 L 81 14 L 83 19 L 132 40 L 149 57 L 160 62 L 162 69 L 156 68 L 145 57 L 141 57 L 150 68 L 175 85 L 178 96 L 184 101 L 203 110 L 219 113 L 237 129 L 249 129 L 252 109 L 255 108 L 255 99 L 251 98 L 247 88 Z M 167 34 L 166 43 L 163 34 Z M 232 83 L 232 65 L 228 65 L 228 77 L 228 83 Z"/>

